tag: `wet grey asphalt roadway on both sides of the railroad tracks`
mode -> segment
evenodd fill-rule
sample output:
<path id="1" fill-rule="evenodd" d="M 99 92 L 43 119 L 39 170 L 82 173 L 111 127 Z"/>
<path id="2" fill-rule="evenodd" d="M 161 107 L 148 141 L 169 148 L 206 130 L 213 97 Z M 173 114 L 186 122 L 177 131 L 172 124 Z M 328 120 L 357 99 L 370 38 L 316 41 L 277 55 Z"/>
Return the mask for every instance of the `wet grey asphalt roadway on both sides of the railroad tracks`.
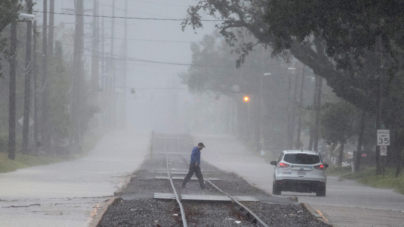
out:
<path id="1" fill-rule="evenodd" d="M 83 159 L 0 174 L 0 226 L 87 227 L 128 173 L 149 155 L 149 138 L 149 133 L 108 133 Z M 194 139 L 206 145 L 202 160 L 272 193 L 273 166 L 233 137 Z M 284 196 L 309 203 L 335 226 L 404 226 L 404 195 L 389 189 L 329 177 L 326 197 L 282 192 Z"/>

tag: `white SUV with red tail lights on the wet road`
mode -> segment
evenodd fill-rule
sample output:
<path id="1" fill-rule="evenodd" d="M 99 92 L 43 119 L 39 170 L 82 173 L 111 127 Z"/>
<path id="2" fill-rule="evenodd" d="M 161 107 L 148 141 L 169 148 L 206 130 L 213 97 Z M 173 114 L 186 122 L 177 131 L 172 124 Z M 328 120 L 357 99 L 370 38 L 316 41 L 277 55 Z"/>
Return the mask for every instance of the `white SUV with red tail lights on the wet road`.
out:
<path id="1" fill-rule="evenodd" d="M 284 150 L 275 165 L 272 193 L 280 195 L 282 191 L 316 192 L 325 196 L 327 174 L 321 156 L 315 151 Z"/>

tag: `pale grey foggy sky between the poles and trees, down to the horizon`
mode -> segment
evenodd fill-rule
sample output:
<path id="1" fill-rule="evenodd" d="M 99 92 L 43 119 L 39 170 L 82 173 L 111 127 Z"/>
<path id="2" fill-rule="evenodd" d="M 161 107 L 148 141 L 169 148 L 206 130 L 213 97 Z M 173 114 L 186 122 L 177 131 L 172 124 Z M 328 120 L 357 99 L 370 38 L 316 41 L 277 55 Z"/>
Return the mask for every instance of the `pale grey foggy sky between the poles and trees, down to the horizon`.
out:
<path id="1" fill-rule="evenodd" d="M 138 130 L 156 130 L 161 132 L 187 132 L 189 126 L 185 123 L 184 108 L 197 102 L 199 97 L 189 93 L 187 85 L 181 84 L 179 73 L 187 72 L 191 64 L 191 42 L 199 42 L 206 34 L 212 34 L 214 23 L 207 22 L 204 29 L 197 33 L 191 27 L 182 31 L 181 21 L 187 15 L 187 8 L 194 4 L 192 0 L 176 1 L 143 1 L 115 0 L 115 17 L 125 17 L 127 13 L 127 80 L 124 86 L 116 83 L 116 92 L 124 93 L 126 102 L 126 127 Z M 48 1 L 49 6 L 49 1 Z M 74 32 L 75 16 L 74 0 L 55 1 L 55 38 L 61 41 L 64 54 L 71 56 L 73 53 L 72 43 L 64 39 L 68 28 Z M 104 49 L 106 57 L 111 57 L 111 23 L 114 21 L 113 58 L 121 59 L 124 56 L 125 19 L 107 18 L 112 17 L 111 0 L 98 0 L 98 15 L 106 16 L 99 18 L 100 43 L 99 52 Z M 93 1 L 84 2 L 84 51 L 83 61 L 85 76 L 91 73 L 91 41 Z M 125 9 L 127 12 L 125 12 Z M 43 1 L 36 1 L 34 14 L 38 25 L 42 26 Z M 38 11 L 38 12 L 35 12 Z M 139 18 L 139 19 L 133 19 Z M 150 20 L 142 20 L 150 19 Z M 154 20 L 157 19 L 157 20 Z M 171 20 L 173 19 L 173 20 Z M 49 16 L 48 16 L 49 20 Z M 167 20 L 167 21 L 166 21 Z M 104 23 L 104 48 L 102 47 L 102 21 Z M 63 28 L 63 30 L 62 30 Z M 71 34 L 73 36 L 73 34 Z M 109 56 L 108 56 L 109 55 Z M 110 61 L 110 60 L 106 60 Z M 123 61 L 115 61 L 115 75 L 123 73 Z M 102 88 L 100 62 L 100 81 Z M 132 88 L 134 93 L 132 93 Z M 122 96 L 121 96 L 122 99 Z M 117 106 L 122 100 L 117 101 Z M 116 108 L 119 108 L 117 107 Z M 105 109 L 95 116 L 96 124 L 102 124 Z M 117 110 L 119 111 L 119 110 Z M 117 113 L 119 115 L 120 113 Z M 98 119 L 98 121 L 97 121 Z M 121 125 L 122 126 L 122 125 Z"/>

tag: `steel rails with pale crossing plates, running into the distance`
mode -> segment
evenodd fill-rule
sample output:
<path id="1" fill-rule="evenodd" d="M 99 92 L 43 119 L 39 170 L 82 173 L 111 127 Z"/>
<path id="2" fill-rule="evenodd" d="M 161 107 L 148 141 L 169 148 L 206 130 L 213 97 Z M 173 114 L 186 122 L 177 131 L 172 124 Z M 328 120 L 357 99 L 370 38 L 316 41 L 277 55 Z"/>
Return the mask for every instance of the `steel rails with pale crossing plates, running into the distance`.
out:
<path id="1" fill-rule="evenodd" d="M 212 181 L 219 180 L 219 179 L 209 179 L 206 178 L 205 182 L 209 183 L 215 190 L 211 190 L 209 194 L 200 194 L 199 190 L 188 190 L 187 194 L 180 194 L 179 192 L 183 191 L 182 188 L 178 188 L 178 186 L 174 186 L 174 180 L 184 179 L 185 175 L 187 174 L 187 167 L 190 164 L 190 160 L 187 158 L 187 154 L 184 153 L 183 147 L 186 144 L 187 138 L 182 137 L 181 135 L 166 135 L 166 134 L 159 134 L 153 137 L 152 146 L 156 147 L 157 149 L 153 148 L 155 155 L 164 155 L 166 158 L 166 174 L 167 179 L 170 180 L 170 185 L 172 187 L 173 194 L 167 193 L 155 193 L 154 198 L 156 199 L 168 199 L 168 198 L 175 198 L 180 207 L 181 211 L 181 219 L 183 227 L 188 227 L 187 217 L 184 210 L 184 206 L 182 204 L 183 197 L 187 198 L 187 200 L 194 200 L 194 201 L 204 201 L 204 202 L 216 202 L 216 201 L 231 201 L 232 204 L 235 206 L 235 209 L 240 210 L 240 213 L 245 215 L 246 220 L 250 220 L 250 224 L 257 227 L 269 227 L 261 218 L 259 218 L 252 210 L 250 210 L 247 206 L 243 205 L 239 200 L 244 201 L 257 201 L 254 198 L 247 198 L 247 197 L 235 197 L 226 193 L 218 186 L 213 184 Z M 163 149 L 162 149 L 163 148 Z M 188 156 L 190 155 L 190 148 L 188 147 Z M 175 167 L 172 167 L 175 166 Z M 178 169 L 181 166 L 182 169 Z M 184 175 L 185 174 L 185 175 Z M 174 177 L 174 175 L 181 175 L 181 177 Z M 158 177 L 164 179 L 165 177 Z M 195 178 L 194 176 L 192 177 Z M 177 184 L 178 185 L 178 184 Z M 179 192 L 177 192 L 179 191 Z M 199 193 L 198 193 L 199 192 Z M 213 192 L 213 193 L 212 193 Z"/>

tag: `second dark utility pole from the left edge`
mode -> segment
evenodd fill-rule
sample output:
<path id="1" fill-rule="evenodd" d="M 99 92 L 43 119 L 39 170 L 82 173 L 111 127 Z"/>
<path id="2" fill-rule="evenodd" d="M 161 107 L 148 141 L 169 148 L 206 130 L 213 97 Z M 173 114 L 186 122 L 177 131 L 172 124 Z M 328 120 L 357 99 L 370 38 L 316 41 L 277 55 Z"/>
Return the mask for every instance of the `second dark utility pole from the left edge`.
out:
<path id="1" fill-rule="evenodd" d="M 28 14 L 32 14 L 32 0 L 27 1 Z M 31 94 L 31 39 L 32 21 L 27 21 L 27 40 L 25 48 L 25 84 L 24 84 L 24 117 L 22 122 L 22 153 L 28 153 L 29 106 Z"/>

